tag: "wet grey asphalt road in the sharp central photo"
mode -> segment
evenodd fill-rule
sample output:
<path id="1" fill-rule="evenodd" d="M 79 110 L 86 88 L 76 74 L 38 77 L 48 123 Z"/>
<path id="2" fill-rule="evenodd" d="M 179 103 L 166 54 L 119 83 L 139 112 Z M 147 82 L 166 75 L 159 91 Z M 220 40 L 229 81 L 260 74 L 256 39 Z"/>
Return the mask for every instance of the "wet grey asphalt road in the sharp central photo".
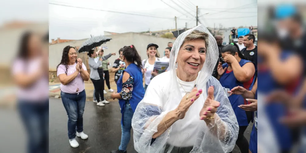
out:
<path id="1" fill-rule="evenodd" d="M 61 99 L 49 99 L 49 153 L 110 153 L 118 149 L 121 140 L 121 113 L 118 101 L 97 106 L 87 101 L 83 114 L 83 128 L 87 140 L 77 137 L 80 146 L 70 147 L 67 131 L 68 117 Z M 134 150 L 132 133 L 127 148 Z"/>

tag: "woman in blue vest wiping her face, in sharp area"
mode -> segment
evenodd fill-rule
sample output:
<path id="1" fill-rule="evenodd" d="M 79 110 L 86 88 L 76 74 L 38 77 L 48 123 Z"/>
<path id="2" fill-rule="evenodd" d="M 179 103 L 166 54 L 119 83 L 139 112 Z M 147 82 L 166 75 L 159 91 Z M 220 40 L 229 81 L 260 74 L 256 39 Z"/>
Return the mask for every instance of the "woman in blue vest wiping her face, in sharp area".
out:
<path id="1" fill-rule="evenodd" d="M 254 84 L 256 64 L 248 61 L 247 58 L 241 54 L 236 43 L 226 45 L 221 50 L 222 58 L 225 63 L 218 65 L 218 77 L 222 87 L 233 107 L 239 125 L 239 133 L 236 141 L 241 153 L 248 153 L 248 140 L 244 137 L 244 131 L 247 129 L 252 120 L 252 112 L 246 112 L 238 106 L 248 104 L 248 102 L 241 95 L 229 95 L 227 91 L 241 86 L 249 90 L 250 86 Z"/>

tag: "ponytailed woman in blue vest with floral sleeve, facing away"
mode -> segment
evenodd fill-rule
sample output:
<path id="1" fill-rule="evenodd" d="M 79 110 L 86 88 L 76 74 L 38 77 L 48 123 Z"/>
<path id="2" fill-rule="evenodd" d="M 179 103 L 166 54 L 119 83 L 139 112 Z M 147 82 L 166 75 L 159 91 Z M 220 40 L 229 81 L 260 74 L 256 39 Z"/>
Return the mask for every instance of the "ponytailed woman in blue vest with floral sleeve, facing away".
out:
<path id="1" fill-rule="evenodd" d="M 126 153 L 132 129 L 132 118 L 138 103 L 144 98 L 141 58 L 134 45 L 125 47 L 122 52 L 125 70 L 117 82 L 118 93 L 111 94 L 119 99 L 121 108 L 121 143 L 118 150 L 111 153 Z M 136 64 L 137 63 L 137 64 Z"/>

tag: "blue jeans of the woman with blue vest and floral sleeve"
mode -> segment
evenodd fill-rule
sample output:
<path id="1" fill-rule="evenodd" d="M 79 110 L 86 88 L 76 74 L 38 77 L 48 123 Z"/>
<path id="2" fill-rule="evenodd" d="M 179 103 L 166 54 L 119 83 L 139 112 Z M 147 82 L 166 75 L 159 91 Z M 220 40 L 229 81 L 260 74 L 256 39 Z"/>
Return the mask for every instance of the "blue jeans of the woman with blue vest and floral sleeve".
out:
<path id="1" fill-rule="evenodd" d="M 119 150 L 126 151 L 131 138 L 133 110 L 131 105 L 125 104 L 123 113 L 123 125 L 121 125 L 121 142 Z"/>

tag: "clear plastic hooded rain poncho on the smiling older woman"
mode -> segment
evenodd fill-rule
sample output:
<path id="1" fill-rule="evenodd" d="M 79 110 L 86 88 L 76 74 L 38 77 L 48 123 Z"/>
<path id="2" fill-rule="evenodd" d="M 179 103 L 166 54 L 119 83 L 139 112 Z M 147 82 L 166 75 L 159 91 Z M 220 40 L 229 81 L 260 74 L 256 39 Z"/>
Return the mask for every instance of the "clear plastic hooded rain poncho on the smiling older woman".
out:
<path id="1" fill-rule="evenodd" d="M 165 115 L 176 109 L 183 98 L 179 89 L 180 84 L 177 81 L 177 54 L 185 37 L 193 30 L 205 32 L 209 35 L 208 42 L 206 42 L 208 43 L 206 59 L 196 81 L 196 87 L 198 90 L 202 89 L 203 94 L 189 107 L 185 118 L 176 121 L 162 135 L 152 139 L 153 134 L 157 132 L 158 125 L 163 123 Z M 138 104 L 133 115 L 133 139 L 137 152 L 185 153 L 184 147 L 188 146 L 191 146 L 191 148 L 193 146 L 190 153 L 228 153 L 233 150 L 239 131 L 237 119 L 220 82 L 211 76 L 218 56 L 219 52 L 215 38 L 202 25 L 187 30 L 178 36 L 170 52 L 170 71 L 162 73 L 151 80 L 144 99 Z M 220 118 L 215 118 L 214 125 L 207 126 L 205 121 L 200 120 L 199 110 L 204 105 L 207 89 L 210 86 L 214 86 L 215 100 L 220 102 L 215 115 L 218 115 L 221 120 Z M 171 106 L 171 109 L 169 109 L 169 106 Z M 189 128 L 188 125 L 186 126 L 187 123 L 190 123 L 190 118 L 200 120 L 199 124 L 193 124 L 196 126 L 196 130 L 190 131 L 189 129 L 195 129 L 194 126 L 189 126 Z M 215 129 L 214 132 L 212 132 L 212 127 Z M 221 136 L 220 127 L 225 127 L 225 132 L 223 132 L 225 136 Z M 190 140 L 190 138 L 192 139 Z M 187 139 L 189 144 L 185 141 Z"/>

